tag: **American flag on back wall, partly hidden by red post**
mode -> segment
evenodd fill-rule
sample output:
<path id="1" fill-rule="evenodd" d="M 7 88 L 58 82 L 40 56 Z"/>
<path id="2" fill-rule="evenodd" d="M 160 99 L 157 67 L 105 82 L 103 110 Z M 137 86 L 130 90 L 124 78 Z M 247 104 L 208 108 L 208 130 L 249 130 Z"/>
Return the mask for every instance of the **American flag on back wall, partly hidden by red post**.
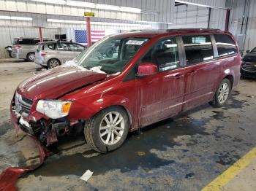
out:
<path id="1" fill-rule="evenodd" d="M 105 31 L 91 31 L 91 42 L 97 42 L 105 36 Z M 87 44 L 85 30 L 75 30 L 75 42 Z"/>

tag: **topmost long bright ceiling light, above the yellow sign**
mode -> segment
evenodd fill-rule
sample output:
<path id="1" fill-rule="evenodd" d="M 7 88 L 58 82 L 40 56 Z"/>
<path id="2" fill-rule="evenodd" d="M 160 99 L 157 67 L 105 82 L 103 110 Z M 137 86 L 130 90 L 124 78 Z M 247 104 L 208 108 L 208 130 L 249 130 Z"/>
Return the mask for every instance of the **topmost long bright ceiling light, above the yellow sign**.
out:
<path id="1" fill-rule="evenodd" d="M 72 0 L 31 0 L 36 2 L 42 2 L 47 4 L 63 4 L 73 7 L 84 7 L 84 8 L 91 8 L 91 9 L 105 9 L 105 10 L 111 10 L 111 11 L 120 11 L 120 12 L 134 12 L 134 13 L 140 13 L 141 9 L 133 8 L 133 7 L 121 7 L 116 5 L 110 5 L 110 4 L 95 4 L 95 3 L 89 3 L 89 2 L 83 2 L 83 1 L 72 1 Z"/>

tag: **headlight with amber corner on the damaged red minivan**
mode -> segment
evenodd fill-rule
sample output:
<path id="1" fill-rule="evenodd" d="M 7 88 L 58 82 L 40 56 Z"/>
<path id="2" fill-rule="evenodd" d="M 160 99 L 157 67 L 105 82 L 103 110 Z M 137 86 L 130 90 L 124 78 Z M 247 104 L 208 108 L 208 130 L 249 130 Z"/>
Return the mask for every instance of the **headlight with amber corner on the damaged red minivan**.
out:
<path id="1" fill-rule="evenodd" d="M 52 119 L 65 117 L 69 114 L 71 101 L 39 100 L 37 112 L 45 114 Z"/>

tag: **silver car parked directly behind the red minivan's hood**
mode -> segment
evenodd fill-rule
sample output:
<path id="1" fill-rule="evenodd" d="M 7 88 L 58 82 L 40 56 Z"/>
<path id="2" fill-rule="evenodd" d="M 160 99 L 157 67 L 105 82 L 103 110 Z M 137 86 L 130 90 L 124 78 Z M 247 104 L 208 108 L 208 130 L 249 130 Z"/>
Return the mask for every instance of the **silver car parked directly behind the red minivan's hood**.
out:
<path id="1" fill-rule="evenodd" d="M 80 52 L 83 52 L 83 50 L 86 50 L 86 47 L 75 42 L 42 42 L 37 45 L 34 62 L 40 66 L 46 66 L 48 69 L 52 69 L 66 61 L 72 60 Z"/>

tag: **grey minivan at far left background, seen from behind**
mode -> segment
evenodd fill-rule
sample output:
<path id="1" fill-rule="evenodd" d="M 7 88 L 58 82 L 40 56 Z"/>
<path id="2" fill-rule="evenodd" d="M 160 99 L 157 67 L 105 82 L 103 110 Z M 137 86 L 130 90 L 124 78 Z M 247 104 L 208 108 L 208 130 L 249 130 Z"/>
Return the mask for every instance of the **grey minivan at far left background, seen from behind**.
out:
<path id="1" fill-rule="evenodd" d="M 51 39 L 43 39 L 44 42 Z M 12 58 L 25 59 L 34 62 L 37 44 L 40 42 L 38 38 L 15 38 L 12 43 Z"/>

